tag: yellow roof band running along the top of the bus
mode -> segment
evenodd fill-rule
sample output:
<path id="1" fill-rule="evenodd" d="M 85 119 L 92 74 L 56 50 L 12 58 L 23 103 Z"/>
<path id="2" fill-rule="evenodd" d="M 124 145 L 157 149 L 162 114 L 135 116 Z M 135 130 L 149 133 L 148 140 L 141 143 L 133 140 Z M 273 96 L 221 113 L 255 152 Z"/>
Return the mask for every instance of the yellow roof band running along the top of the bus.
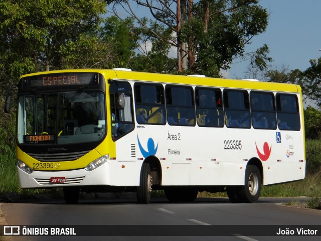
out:
<path id="1" fill-rule="evenodd" d="M 124 80 L 138 80 L 148 82 L 160 82 L 171 84 L 187 84 L 206 87 L 220 87 L 220 88 L 240 88 L 240 89 L 255 89 L 255 90 L 269 90 L 269 91 L 283 91 L 283 92 L 301 92 L 301 87 L 296 84 L 275 83 L 275 82 L 260 82 L 249 81 L 241 79 L 224 79 L 224 78 L 211 78 L 199 76 L 186 76 L 186 75 L 172 75 L 172 74 L 156 74 L 126 71 L 119 69 L 65 69 L 54 70 L 46 72 L 37 72 L 26 74 L 21 78 L 35 76 L 40 74 L 62 73 L 62 72 L 97 72 L 105 76 L 106 79 L 124 79 Z"/>

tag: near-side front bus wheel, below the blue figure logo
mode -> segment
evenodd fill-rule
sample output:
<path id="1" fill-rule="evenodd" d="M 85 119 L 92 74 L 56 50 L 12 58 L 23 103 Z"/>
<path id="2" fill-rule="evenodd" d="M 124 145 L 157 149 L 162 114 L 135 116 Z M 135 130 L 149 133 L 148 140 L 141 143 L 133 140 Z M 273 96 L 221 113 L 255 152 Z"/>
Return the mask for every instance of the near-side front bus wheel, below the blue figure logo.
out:
<path id="1" fill-rule="evenodd" d="M 144 163 L 141 167 L 139 186 L 137 187 L 137 201 L 139 203 L 150 202 L 151 186 L 150 166 L 148 163 Z"/>

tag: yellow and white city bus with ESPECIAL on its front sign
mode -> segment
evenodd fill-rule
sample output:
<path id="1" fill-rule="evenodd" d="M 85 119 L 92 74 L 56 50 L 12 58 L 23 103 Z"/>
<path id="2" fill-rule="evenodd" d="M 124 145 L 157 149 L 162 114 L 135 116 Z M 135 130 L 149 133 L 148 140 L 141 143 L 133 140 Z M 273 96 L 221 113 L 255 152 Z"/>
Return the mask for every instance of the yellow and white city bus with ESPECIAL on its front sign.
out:
<path id="1" fill-rule="evenodd" d="M 226 191 L 255 202 L 262 185 L 305 176 L 301 89 L 294 84 L 70 69 L 18 84 L 21 188 L 151 190 L 171 201 Z"/>

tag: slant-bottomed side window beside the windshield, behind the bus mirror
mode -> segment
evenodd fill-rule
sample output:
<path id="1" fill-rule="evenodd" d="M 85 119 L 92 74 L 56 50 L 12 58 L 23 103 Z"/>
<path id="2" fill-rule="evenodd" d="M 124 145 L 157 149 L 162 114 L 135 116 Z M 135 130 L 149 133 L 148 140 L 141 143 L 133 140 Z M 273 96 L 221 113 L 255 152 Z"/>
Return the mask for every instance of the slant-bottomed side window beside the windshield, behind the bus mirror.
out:
<path id="1" fill-rule="evenodd" d="M 134 129 L 132 91 L 128 82 L 112 80 L 109 92 L 111 131 L 112 138 L 115 141 Z"/>

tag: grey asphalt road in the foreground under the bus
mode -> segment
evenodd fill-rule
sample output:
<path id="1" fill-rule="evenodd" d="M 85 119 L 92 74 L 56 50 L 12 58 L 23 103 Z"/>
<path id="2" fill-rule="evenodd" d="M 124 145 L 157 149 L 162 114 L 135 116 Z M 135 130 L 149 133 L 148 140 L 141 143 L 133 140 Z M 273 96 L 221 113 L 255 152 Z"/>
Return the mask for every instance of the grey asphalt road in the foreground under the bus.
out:
<path id="1" fill-rule="evenodd" d="M 193 203 L 170 203 L 165 198 L 154 198 L 147 205 L 137 204 L 134 198 L 87 198 L 80 200 L 77 205 L 66 205 L 61 199 L 37 199 L 25 203 L 3 203 L 1 209 L 7 225 L 36 225 L 36 227 L 48 225 L 46 227 L 49 228 L 54 225 L 66 225 L 66 227 L 84 225 L 76 226 L 78 234 L 79 232 L 93 236 L 97 233 L 117 234 L 117 236 L 94 237 L 11 236 L 11 240 L 14 241 L 320 240 L 321 211 L 281 204 L 290 200 L 302 201 L 302 198 L 260 198 L 254 204 L 231 203 L 227 198 L 198 198 Z M 301 227 L 311 228 L 311 230 L 316 228 L 318 236 L 278 236 L 276 234 L 273 237 L 265 236 L 266 233 L 271 232 L 269 230 L 271 228 L 274 233 L 279 228 L 286 230 L 286 227 L 295 232 L 296 228 Z M 135 235 L 140 236 L 128 236 L 128 232 L 132 233 L 133 229 L 137 230 Z M 227 234 L 218 236 L 211 232 L 213 229 Z M 265 232 L 266 229 L 267 232 Z M 255 235 L 252 235 L 253 233 Z M 151 237 L 150 234 L 153 236 Z M 154 236 L 154 234 L 157 235 Z"/>

